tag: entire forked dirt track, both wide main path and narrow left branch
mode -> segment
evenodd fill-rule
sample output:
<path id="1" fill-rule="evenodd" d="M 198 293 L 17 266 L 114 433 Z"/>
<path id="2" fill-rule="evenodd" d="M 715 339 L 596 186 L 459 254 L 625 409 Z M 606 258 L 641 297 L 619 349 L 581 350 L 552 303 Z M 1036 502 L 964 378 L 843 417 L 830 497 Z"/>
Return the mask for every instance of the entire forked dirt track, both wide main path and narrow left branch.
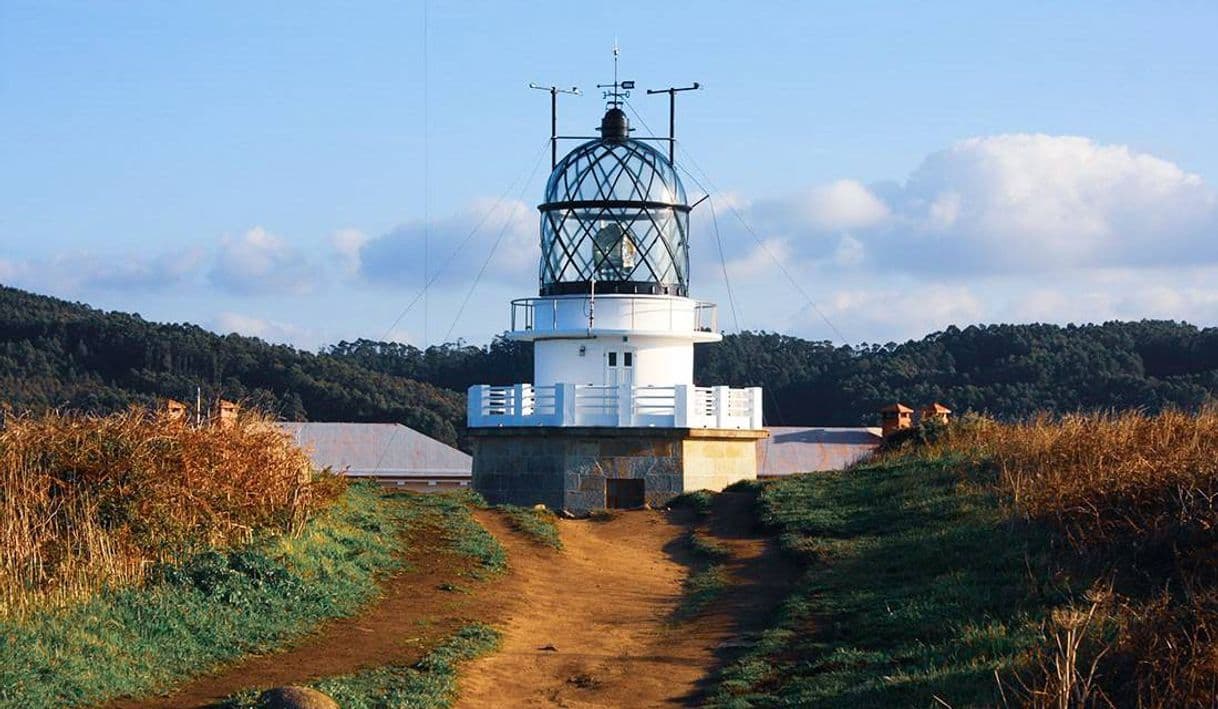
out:
<path id="1" fill-rule="evenodd" d="M 202 707 L 248 687 L 404 664 L 473 620 L 495 625 L 504 641 L 463 668 L 458 707 L 697 704 L 703 682 L 761 627 L 792 580 L 772 540 L 752 534 L 749 502 L 721 495 L 710 523 L 700 523 L 731 548 L 733 585 L 693 619 L 672 620 L 692 560 L 683 535 L 693 520 L 653 510 L 559 520 L 559 552 L 513 532 L 498 513 L 480 512 L 508 551 L 505 576 L 460 581 L 470 593 L 443 591 L 470 562 L 432 548 L 410 558 L 413 570 L 386 581 L 381 599 L 356 618 L 169 696 L 112 705 Z"/>

